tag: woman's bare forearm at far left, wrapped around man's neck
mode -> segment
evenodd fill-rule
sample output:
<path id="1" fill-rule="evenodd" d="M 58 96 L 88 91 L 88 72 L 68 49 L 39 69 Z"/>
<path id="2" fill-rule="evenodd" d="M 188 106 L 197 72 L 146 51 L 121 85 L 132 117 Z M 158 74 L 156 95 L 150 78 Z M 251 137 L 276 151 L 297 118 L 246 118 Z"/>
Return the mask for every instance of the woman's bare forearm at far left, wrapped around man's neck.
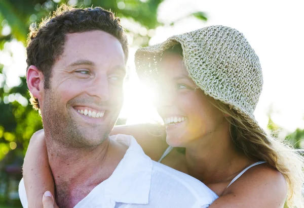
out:
<path id="1" fill-rule="evenodd" d="M 43 207 L 42 198 L 49 190 L 54 196 L 54 180 L 49 166 L 44 130 L 30 139 L 23 164 L 23 179 L 28 207 Z"/>

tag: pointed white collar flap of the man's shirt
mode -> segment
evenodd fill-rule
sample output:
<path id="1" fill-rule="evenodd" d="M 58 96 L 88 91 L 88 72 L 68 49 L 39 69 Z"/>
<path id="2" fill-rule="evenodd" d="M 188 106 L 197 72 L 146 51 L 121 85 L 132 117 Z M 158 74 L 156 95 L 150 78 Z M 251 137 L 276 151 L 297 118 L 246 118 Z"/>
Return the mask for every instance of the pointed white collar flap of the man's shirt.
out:
<path id="1" fill-rule="evenodd" d="M 105 194 L 116 202 L 147 204 L 153 168 L 152 160 L 143 152 L 135 138 L 116 135 L 119 142 L 129 139 L 129 148 L 112 175 L 106 180 Z"/>

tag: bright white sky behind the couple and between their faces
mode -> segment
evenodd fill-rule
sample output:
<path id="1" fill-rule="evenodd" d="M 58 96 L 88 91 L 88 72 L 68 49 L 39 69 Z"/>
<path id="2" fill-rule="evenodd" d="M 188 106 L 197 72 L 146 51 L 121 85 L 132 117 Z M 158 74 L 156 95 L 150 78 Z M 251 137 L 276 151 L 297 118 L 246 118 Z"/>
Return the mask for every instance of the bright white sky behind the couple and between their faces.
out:
<path id="1" fill-rule="evenodd" d="M 208 21 L 185 18 L 173 27 L 159 27 L 150 44 L 169 36 L 192 31 L 208 25 L 221 24 L 241 31 L 259 56 L 263 76 L 263 91 L 255 111 L 259 124 L 266 128 L 267 114 L 272 106 L 275 123 L 288 131 L 304 128 L 304 4 L 303 1 L 203 1 L 166 0 L 159 8 L 159 20 L 167 25 L 195 11 L 207 13 Z M 123 22 L 122 22 L 123 24 Z M 16 84 L 16 76 L 24 76 L 25 51 L 21 43 L 7 45 L 13 57 L 0 52 L 8 84 Z M 130 82 L 125 87 L 122 117 L 128 123 L 160 121 L 140 86 L 134 72 L 135 48 L 130 49 Z M 0 77 L 1 81 L 1 77 Z"/>

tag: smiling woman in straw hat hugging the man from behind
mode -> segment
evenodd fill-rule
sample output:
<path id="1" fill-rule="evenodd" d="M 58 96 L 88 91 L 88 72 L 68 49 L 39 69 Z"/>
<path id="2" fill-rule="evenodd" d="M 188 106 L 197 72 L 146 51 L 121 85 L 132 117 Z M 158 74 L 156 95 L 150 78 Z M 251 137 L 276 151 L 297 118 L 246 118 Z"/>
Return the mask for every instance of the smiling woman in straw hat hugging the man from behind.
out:
<path id="1" fill-rule="evenodd" d="M 154 136 L 151 125 L 116 127 L 113 134 L 133 135 L 151 159 L 205 183 L 219 196 L 210 207 L 283 207 L 285 201 L 302 207 L 302 157 L 254 119 L 262 73 L 242 33 L 205 27 L 141 48 L 135 57 L 141 79 L 159 89 L 166 134 L 159 127 Z M 37 179 L 43 183 L 33 190 L 28 184 Z M 54 190 L 42 132 L 31 139 L 24 181 L 29 203 L 41 200 L 35 193 Z"/>

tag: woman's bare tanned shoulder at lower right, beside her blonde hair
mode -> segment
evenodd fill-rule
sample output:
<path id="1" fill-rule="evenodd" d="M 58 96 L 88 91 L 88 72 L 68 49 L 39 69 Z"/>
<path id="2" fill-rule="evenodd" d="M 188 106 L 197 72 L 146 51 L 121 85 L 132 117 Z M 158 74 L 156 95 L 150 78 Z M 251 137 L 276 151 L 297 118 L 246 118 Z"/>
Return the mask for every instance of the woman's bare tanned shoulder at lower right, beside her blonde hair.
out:
<path id="1" fill-rule="evenodd" d="M 265 203 L 259 204 L 261 206 L 276 204 L 281 207 L 287 196 L 287 183 L 282 173 L 263 163 L 248 169 L 223 192 L 225 195 L 248 203 L 254 200 Z"/>

